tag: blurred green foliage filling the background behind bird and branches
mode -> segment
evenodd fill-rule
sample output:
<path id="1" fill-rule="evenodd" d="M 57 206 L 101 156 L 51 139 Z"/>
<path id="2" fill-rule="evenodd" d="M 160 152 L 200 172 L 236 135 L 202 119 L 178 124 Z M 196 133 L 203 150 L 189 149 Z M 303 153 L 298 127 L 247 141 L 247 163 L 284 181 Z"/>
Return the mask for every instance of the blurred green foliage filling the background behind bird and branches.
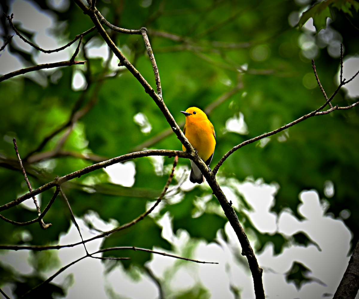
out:
<path id="1" fill-rule="evenodd" d="M 64 12 L 51 9 L 45 0 L 36 2 L 41 9 L 52 10 L 59 22 L 65 22 L 66 26 L 61 27 L 63 31 L 54 31 L 59 38 L 73 38 L 93 26 L 88 16 L 73 1 L 70 1 L 69 9 Z M 358 27 L 359 19 L 358 3 L 344 2 L 342 5 L 352 3 L 353 7 L 346 5 L 345 10 L 332 5 L 333 22 L 330 26 L 342 36 L 345 55 L 355 55 L 359 50 L 359 31 L 355 28 Z M 1 5 L 5 13 L 11 14 L 10 2 L 1 1 Z M 149 38 L 161 76 L 164 101 L 177 122 L 184 121 L 181 110 L 191 106 L 204 109 L 237 83 L 242 84 L 234 95 L 215 107 L 209 115 L 217 136 L 212 167 L 233 146 L 289 123 L 324 103 L 320 89 L 308 79 L 308 73 L 312 72 L 312 57 L 301 50 L 298 42 L 303 34 L 314 36 L 314 33 L 303 33 L 302 29 L 292 28 L 288 23 L 289 15 L 303 8 L 294 1 L 98 0 L 96 5 L 109 22 L 120 27 L 138 29 L 146 26 L 151 29 Z M 307 17 L 314 17 L 317 29 L 323 28 L 323 19 L 318 21 L 321 25 L 317 25 L 314 13 Z M 21 22 L 16 15 L 14 20 Z M 5 18 L 1 17 L 1 21 L 4 35 L 9 35 L 11 32 Z M 301 22 L 300 25 L 303 25 L 305 20 Z M 177 41 L 159 36 L 155 31 L 164 32 L 164 36 L 166 33 L 176 34 Z M 116 45 L 155 87 L 153 71 L 141 36 L 111 34 Z M 27 36 L 32 37 L 31 34 Z M 95 38 L 99 38 L 96 31 L 85 36 L 83 42 L 88 45 Z M 319 44 L 317 35 L 314 39 Z M 103 44 L 100 39 L 97 43 Z M 32 61 L 33 55 L 37 54 L 34 51 L 29 55 L 11 45 L 8 48 L 28 61 Z M 316 59 L 322 85 L 330 95 L 336 89 L 334 78 L 339 59 L 331 57 L 327 45 L 322 44 L 313 58 Z M 78 59 L 87 59 L 83 49 Z M 13 137 L 17 139 L 25 169 L 35 189 L 56 176 L 64 176 L 101 159 L 129 153 L 139 144 L 168 129 L 162 113 L 139 82 L 128 71 L 108 69 L 107 66 L 102 59 L 91 58 L 84 68 L 72 66 L 56 70 L 53 75 L 46 75 L 46 87 L 24 77 L 0 83 L 3 95 L 0 101 L 1 205 L 27 192 L 15 159 L 11 141 Z M 87 88 L 83 91 L 71 89 L 75 70 L 83 73 L 87 81 Z M 340 91 L 333 105 L 347 106 L 352 102 Z M 36 160 L 35 155 L 54 150 L 66 130 L 59 130 L 39 152 L 31 153 L 47 136 L 68 123 L 71 116 L 83 108 L 88 109 L 87 113 L 76 121 L 61 151 Z M 152 128 L 150 132 L 142 132 L 141 127 L 134 122 L 134 116 L 139 112 L 148 118 Z M 244 135 L 226 130 L 226 121 L 238 116 L 240 112 L 248 127 Z M 355 220 L 359 217 L 358 129 L 358 109 L 310 118 L 279 136 L 272 136 L 267 143 L 259 142 L 241 148 L 223 164 L 219 176 L 239 181 L 252 176 L 263 178 L 267 183 L 277 182 L 280 189 L 272 210 L 279 213 L 289 208 L 298 218 L 298 194 L 302 190 L 316 189 L 320 197 L 330 203 L 328 212 L 335 217 L 343 209 L 350 210 L 351 216 L 344 222 L 353 232 L 355 245 L 359 239 L 359 224 Z M 181 144 L 172 134 L 150 147 L 179 150 Z M 93 210 L 103 220 L 115 219 L 121 225 L 143 213 L 146 202 L 153 201 L 162 190 L 168 172 L 156 174 L 153 160 L 148 158 L 134 162 L 136 175 L 131 188 L 109 183 L 103 170 L 64 184 L 64 192 L 75 215 L 82 217 Z M 164 159 L 165 170 L 171 164 L 172 159 Z M 189 161 L 183 159 L 180 164 L 190 165 Z M 324 193 L 327 181 L 334 183 L 335 192 L 331 197 Z M 50 200 L 52 192 L 49 190 L 42 194 L 43 205 Z M 211 196 L 211 191 L 206 188 L 195 187 L 183 192 L 180 202 L 170 204 L 169 201 L 154 218 L 148 217 L 130 229 L 107 237 L 103 247 L 138 246 L 171 250 L 171 244 L 162 238 L 161 228 L 156 222 L 165 212 L 173 217 L 174 232 L 185 229 L 193 238 L 212 242 L 217 231 L 223 229 L 227 221 L 218 212 L 219 205 L 214 197 L 206 202 L 205 208 L 198 215 L 195 202 L 205 196 Z M 283 246 L 288 244 L 286 237 L 279 233 L 270 235 L 259 232 L 247 219 L 245 210 L 249 206 L 243 198 L 241 200 L 244 202 L 243 210 L 238 210 L 239 219 L 244 221 L 246 229 L 256 234 L 257 250 L 272 242 L 275 253 L 282 252 Z M 23 206 L 6 210 L 2 215 L 21 222 L 36 217 L 35 212 Z M 53 224 L 45 231 L 37 223 L 18 227 L 0 221 L 0 230 L 3 232 L 0 234 L 0 243 L 41 245 L 56 242 L 71 223 L 69 211 L 61 196 L 44 221 Z M 23 230 L 31 234 L 32 240 L 21 237 Z M 305 246 L 312 243 L 306 235 L 296 235 L 294 239 Z M 151 258 L 148 253 L 134 251 L 106 254 L 131 257 L 131 260 L 121 261 L 125 268 L 131 265 L 141 268 Z M 44 267 L 41 263 L 33 266 Z M 294 266 L 295 271 L 290 272 L 288 281 L 293 281 L 298 288 L 306 280 L 303 273 L 308 269 L 298 263 Z M 8 269 L 0 270 L 0 275 L 7 277 L 3 281 L 13 281 L 18 285 L 16 292 L 19 294 L 36 285 L 38 280 L 35 275 L 26 282 L 19 282 Z M 61 293 L 61 290 L 49 285 L 49 296 L 52 292 Z M 178 298 L 207 298 L 205 290 L 189 292 Z"/>

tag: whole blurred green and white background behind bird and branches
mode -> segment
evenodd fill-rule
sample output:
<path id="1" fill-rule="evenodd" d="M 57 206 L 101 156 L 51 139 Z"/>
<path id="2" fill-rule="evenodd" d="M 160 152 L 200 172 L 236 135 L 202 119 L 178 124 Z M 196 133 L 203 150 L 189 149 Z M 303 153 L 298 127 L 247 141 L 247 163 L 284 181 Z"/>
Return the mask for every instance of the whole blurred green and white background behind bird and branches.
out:
<path id="1" fill-rule="evenodd" d="M 98 0 L 96 5 L 119 27 L 148 28 L 169 111 L 183 125 L 180 111 L 199 107 L 215 127 L 214 167 L 233 146 L 324 103 L 311 59 L 328 95 L 339 84 L 340 43 L 344 78 L 358 71 L 359 4 L 344 2 L 348 9 L 333 6 L 330 18 L 322 17 L 321 31 L 312 18 L 297 26 L 315 1 Z M 0 9 L 14 13 L 18 30 L 45 50 L 63 46 L 93 26 L 69 0 L 2 0 Z M 3 36 L 14 34 L 4 16 L 0 31 Z M 154 87 L 142 37 L 108 33 Z M 76 45 L 46 54 L 14 35 L 0 53 L 0 73 L 69 60 Z M 96 31 L 83 38 L 76 60 L 87 62 L 0 83 L 1 204 L 27 192 L 13 137 L 33 189 L 55 176 L 134 150 L 181 149 L 176 136 L 167 134 L 169 125 L 158 107 L 129 71 L 117 66 Z M 358 83 L 356 78 L 342 88 L 333 104 L 357 101 Z M 220 168 L 217 178 L 264 268 L 269 298 L 332 298 L 335 293 L 359 239 L 358 125 L 356 108 L 313 117 L 241 148 Z M 65 183 L 84 238 L 143 213 L 160 194 L 172 163 L 167 157 L 145 157 Z M 137 246 L 218 265 L 108 252 L 131 260 L 87 258 L 56 277 L 42 298 L 254 298 L 248 264 L 232 228 L 208 184 L 188 181 L 189 169 L 190 163 L 180 159 L 165 200 L 149 217 L 131 229 L 89 242 L 88 250 Z M 51 196 L 46 191 L 38 200 L 45 206 Z M 22 222 L 35 218 L 36 212 L 28 200 L 2 215 Z M 0 243 L 80 240 L 62 197 L 44 221 L 53 224 L 45 231 L 38 224 L 19 227 L 0 221 Z M 0 287 L 10 298 L 18 298 L 84 254 L 80 246 L 2 250 Z"/>

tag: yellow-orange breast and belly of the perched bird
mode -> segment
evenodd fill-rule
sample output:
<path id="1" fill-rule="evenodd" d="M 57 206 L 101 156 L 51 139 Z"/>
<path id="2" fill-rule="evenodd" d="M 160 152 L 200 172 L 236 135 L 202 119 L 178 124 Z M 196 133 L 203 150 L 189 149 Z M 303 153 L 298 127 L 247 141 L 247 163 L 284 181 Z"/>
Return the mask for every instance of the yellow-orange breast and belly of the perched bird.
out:
<path id="1" fill-rule="evenodd" d="M 201 159 L 206 162 L 213 154 L 216 146 L 216 139 L 212 123 L 208 118 L 191 121 L 186 117 L 186 125 L 183 129 L 185 136 L 192 146 L 197 150 Z M 186 150 L 182 145 L 182 149 Z"/>

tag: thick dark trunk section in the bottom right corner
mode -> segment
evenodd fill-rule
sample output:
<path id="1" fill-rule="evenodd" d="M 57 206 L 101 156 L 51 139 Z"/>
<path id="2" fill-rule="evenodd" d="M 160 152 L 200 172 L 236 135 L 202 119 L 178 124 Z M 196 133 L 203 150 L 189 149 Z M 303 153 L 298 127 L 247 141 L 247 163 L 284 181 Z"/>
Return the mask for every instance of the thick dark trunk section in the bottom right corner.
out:
<path id="1" fill-rule="evenodd" d="M 333 299 L 354 299 L 359 290 L 359 242 L 350 257 L 348 267 L 334 294 Z"/>

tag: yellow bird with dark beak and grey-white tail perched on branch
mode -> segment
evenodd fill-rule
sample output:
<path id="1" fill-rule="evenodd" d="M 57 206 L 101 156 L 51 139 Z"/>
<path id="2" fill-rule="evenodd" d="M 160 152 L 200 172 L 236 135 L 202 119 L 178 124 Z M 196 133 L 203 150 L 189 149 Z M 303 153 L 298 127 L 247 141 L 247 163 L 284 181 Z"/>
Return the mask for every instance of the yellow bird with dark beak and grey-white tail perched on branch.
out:
<path id="1" fill-rule="evenodd" d="M 183 134 L 185 134 L 190 144 L 197 150 L 201 159 L 209 166 L 216 146 L 216 134 L 212 123 L 208 120 L 206 113 L 197 107 L 190 107 L 186 111 L 181 112 L 186 116 Z M 184 145 L 182 145 L 182 150 L 186 150 Z M 191 166 L 190 181 L 192 183 L 203 183 L 203 174 L 192 160 Z"/>

